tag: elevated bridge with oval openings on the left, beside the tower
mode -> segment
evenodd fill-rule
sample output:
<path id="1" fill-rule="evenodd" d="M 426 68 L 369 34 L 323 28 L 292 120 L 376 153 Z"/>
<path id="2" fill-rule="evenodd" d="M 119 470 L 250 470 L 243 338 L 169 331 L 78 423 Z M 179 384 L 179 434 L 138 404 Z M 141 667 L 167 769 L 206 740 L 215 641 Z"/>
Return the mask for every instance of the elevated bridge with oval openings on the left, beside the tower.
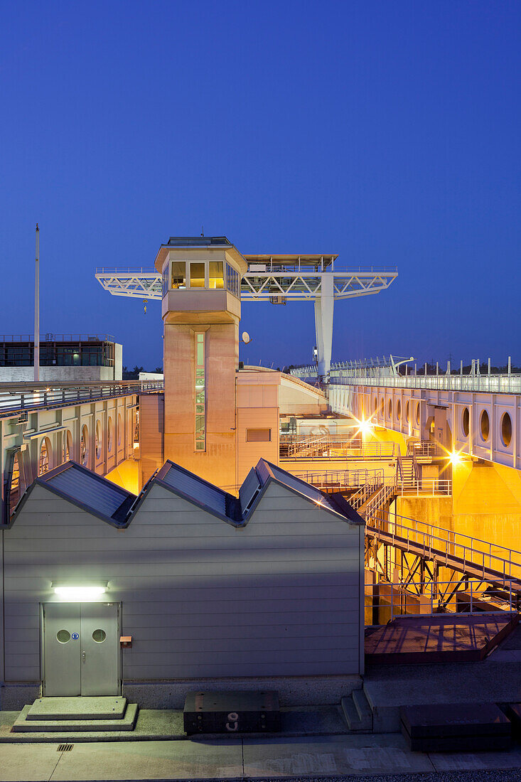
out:
<path id="1" fill-rule="evenodd" d="M 73 459 L 106 475 L 138 448 L 138 400 L 163 382 L 2 383 L 2 522 L 43 472 Z"/>

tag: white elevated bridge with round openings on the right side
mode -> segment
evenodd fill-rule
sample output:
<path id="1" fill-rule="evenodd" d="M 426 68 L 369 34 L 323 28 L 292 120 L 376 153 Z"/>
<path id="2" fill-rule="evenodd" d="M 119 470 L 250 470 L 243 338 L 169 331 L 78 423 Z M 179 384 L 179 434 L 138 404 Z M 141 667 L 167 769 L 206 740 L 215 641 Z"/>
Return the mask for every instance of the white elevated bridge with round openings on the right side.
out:
<path id="1" fill-rule="evenodd" d="M 480 362 L 463 374 L 426 371 L 400 374 L 405 361 L 393 357 L 379 361 L 332 364 L 325 386 L 331 410 L 401 432 L 406 438 L 433 440 L 448 451 L 521 469 L 521 375 L 480 374 Z M 489 361 L 490 367 L 490 361 Z M 292 370 L 314 384 L 316 368 Z"/>

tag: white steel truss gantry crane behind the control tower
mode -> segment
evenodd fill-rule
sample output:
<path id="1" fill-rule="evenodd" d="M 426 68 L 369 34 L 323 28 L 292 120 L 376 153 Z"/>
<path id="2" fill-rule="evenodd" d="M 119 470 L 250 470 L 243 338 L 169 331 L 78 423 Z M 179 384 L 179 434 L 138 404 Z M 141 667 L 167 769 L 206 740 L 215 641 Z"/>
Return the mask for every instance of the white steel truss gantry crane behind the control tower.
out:
<path id="1" fill-rule="evenodd" d="M 336 300 L 369 296 L 389 288 L 397 267 L 339 269 L 336 255 L 245 255 L 248 271 L 241 280 L 241 300 L 286 304 L 314 302 L 318 375 L 329 376 L 333 308 Z M 161 274 L 151 269 L 98 268 L 95 278 L 112 296 L 161 300 Z"/>

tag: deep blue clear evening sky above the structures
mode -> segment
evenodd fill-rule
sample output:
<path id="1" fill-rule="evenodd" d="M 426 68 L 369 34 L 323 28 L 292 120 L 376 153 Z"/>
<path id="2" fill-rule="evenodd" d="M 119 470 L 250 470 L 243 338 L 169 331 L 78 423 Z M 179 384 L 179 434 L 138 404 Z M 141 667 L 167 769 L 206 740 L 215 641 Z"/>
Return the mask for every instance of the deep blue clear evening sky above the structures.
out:
<path id="1" fill-rule="evenodd" d="M 519 2 L 0 2 L 2 332 L 109 332 L 162 363 L 160 304 L 97 266 L 170 235 L 394 265 L 333 357 L 519 343 Z M 309 361 L 313 307 L 246 303 L 242 357 Z"/>

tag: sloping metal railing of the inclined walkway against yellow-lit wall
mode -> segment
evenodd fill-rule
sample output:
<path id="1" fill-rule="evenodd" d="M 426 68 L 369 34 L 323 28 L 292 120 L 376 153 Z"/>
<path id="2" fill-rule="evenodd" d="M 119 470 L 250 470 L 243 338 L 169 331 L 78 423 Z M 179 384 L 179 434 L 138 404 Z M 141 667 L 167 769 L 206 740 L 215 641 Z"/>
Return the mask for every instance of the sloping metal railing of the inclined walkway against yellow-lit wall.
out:
<path id="1" fill-rule="evenodd" d="M 390 486 L 384 486 L 390 489 Z M 407 516 L 393 515 L 386 519 L 379 515 L 382 502 L 374 502 L 365 509 L 366 535 L 376 536 L 422 558 L 435 559 L 439 564 L 483 581 L 516 582 L 521 591 L 521 552 L 480 540 L 452 529 L 444 529 Z"/>

